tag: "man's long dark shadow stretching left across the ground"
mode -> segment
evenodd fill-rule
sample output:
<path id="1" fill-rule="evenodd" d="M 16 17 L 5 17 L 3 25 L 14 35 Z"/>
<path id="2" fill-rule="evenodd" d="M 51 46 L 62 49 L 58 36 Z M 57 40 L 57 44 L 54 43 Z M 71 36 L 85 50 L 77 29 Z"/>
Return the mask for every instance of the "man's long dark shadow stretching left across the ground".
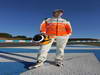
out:
<path id="1" fill-rule="evenodd" d="M 26 55 L 21 55 L 21 54 L 15 54 L 15 53 L 10 53 L 10 52 L 3 52 L 3 51 L 0 51 L 0 53 L 4 54 L 4 55 L 3 54 L 0 55 L 1 58 L 7 59 L 7 60 L 13 60 L 13 61 L 16 61 L 18 63 L 21 63 L 21 64 L 24 65 L 24 68 L 26 70 L 29 70 L 28 69 L 29 66 L 35 65 L 36 64 L 36 60 L 37 60 L 37 57 L 33 57 L 33 56 L 31 57 L 31 56 L 26 56 Z M 14 57 L 11 57 L 11 55 L 14 56 Z M 28 61 L 25 61 L 24 59 L 18 59 L 15 56 L 29 58 L 29 59 L 34 60 L 34 62 L 28 62 Z M 49 63 L 51 65 L 55 65 L 54 61 L 50 61 L 50 60 L 46 60 L 44 63 Z"/>

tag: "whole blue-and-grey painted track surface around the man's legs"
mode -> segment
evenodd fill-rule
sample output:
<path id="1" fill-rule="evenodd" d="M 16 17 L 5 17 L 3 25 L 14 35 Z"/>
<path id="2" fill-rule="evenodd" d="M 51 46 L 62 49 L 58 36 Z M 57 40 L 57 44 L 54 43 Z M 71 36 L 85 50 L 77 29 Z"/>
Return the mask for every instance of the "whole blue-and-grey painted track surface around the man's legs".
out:
<path id="1" fill-rule="evenodd" d="M 28 70 L 36 62 L 39 48 L 0 48 L 0 75 L 100 75 L 99 47 L 68 47 L 64 67 L 54 65 L 55 48 L 49 51 L 44 66 Z"/>

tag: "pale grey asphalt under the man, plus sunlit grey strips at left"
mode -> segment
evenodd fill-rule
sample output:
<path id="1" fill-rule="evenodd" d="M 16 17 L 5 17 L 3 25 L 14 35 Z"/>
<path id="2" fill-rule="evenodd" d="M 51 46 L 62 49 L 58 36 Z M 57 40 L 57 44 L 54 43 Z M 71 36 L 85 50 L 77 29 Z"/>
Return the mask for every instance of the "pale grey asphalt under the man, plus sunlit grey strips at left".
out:
<path id="1" fill-rule="evenodd" d="M 30 58 L 0 53 L 18 59 L 19 61 L 36 62 L 36 53 L 14 53 Z M 33 59 L 34 58 L 34 59 Z M 55 53 L 49 53 L 43 66 L 27 70 L 20 75 L 100 75 L 100 62 L 93 53 L 65 53 L 64 66 L 54 65 Z M 0 58 L 0 62 L 18 62 Z"/>

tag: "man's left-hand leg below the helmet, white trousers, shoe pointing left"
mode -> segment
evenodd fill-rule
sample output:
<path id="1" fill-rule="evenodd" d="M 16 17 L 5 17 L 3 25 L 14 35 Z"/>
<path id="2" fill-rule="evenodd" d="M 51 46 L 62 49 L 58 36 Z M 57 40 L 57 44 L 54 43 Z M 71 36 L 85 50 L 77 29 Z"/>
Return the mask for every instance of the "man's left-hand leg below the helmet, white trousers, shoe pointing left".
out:
<path id="1" fill-rule="evenodd" d="M 37 63 L 35 65 L 30 66 L 29 69 L 33 69 L 43 65 L 44 61 L 46 61 L 47 59 L 48 51 L 50 50 L 53 41 L 54 38 L 52 38 L 49 44 L 40 46 L 40 51 L 37 55 Z"/>

